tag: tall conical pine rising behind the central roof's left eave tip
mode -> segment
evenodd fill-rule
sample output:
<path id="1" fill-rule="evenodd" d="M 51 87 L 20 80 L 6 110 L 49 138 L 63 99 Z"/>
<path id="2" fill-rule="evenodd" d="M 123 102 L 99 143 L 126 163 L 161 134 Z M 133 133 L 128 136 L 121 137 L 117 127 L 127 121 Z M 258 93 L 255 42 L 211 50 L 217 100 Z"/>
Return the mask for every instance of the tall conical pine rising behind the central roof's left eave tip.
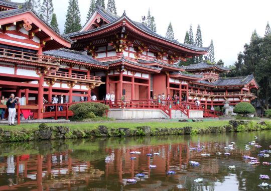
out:
<path id="1" fill-rule="evenodd" d="M 78 0 L 69 0 L 68 12 L 66 15 L 64 34 L 73 33 L 81 29 L 80 11 Z"/>

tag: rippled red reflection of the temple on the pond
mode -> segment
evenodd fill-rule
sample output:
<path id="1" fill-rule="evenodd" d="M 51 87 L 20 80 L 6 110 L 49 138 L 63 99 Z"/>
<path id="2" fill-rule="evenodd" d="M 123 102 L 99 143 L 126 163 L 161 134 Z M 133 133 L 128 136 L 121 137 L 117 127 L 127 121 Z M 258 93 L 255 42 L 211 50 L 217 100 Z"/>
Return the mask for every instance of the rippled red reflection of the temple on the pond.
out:
<path id="1" fill-rule="evenodd" d="M 192 185 L 189 180 L 183 179 L 183 175 L 197 177 L 203 174 L 210 181 L 223 179 L 228 174 L 221 172 L 221 161 L 215 157 L 204 158 L 202 152 L 189 151 L 189 148 L 197 145 L 204 146 L 204 152 L 210 153 L 213 150 L 222 151 L 226 146 L 225 142 L 182 142 L 161 145 L 140 145 L 140 146 L 102 146 L 98 150 L 73 150 L 63 149 L 61 152 L 47 154 L 25 154 L 4 157 L 0 162 L 0 190 L 19 188 L 50 190 L 74 188 L 101 187 L 120 189 L 123 179 L 135 177 L 135 174 L 144 172 L 146 181 L 142 181 L 133 187 L 153 188 L 175 187 L 177 184 Z M 65 147 L 64 147 L 65 148 Z M 131 151 L 140 151 L 140 155 L 131 155 Z M 157 152 L 158 156 L 148 157 L 147 153 Z M 231 151 L 232 154 L 241 153 L 240 150 Z M 249 152 L 249 151 L 248 151 Z M 212 153 L 213 154 L 213 153 Z M 130 160 L 136 156 L 136 160 Z M 196 160 L 201 163 L 200 168 L 188 165 L 189 160 Z M 234 160 L 234 159 L 233 159 Z M 150 169 L 150 164 L 156 164 L 157 168 Z M 9 170 L 9 173 L 7 171 Z M 11 171 L 14 172 L 11 172 Z M 168 170 L 175 170 L 174 178 L 165 176 Z M 218 175 L 219 174 L 219 175 Z M 6 179 L 4 181 L 3 179 Z M 14 184 L 9 186 L 9 178 Z M 162 185 L 163 182 L 163 185 Z"/>

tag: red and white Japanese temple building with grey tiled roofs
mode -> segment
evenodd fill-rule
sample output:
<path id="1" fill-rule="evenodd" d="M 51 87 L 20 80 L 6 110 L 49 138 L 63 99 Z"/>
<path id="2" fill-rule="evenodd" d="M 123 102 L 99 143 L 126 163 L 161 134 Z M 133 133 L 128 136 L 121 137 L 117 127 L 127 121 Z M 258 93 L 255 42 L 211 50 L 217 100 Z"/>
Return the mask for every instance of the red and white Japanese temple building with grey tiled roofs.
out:
<path id="1" fill-rule="evenodd" d="M 219 74 L 229 69 L 207 60 L 179 66 L 180 60 L 207 54 L 208 47 L 162 37 L 125 12 L 119 17 L 97 8 L 80 31 L 60 35 L 24 4 L 0 0 L 0 11 L 0 94 L 25 97 L 24 107 L 37 119 L 52 117 L 44 111 L 43 98 L 51 103 L 61 93 L 71 105 L 80 97 L 90 101 L 95 94 L 103 100 L 106 93 L 114 92 L 111 117 L 114 112 L 122 118 L 123 113 L 140 109 L 140 113 L 163 110 L 162 117 L 167 118 L 173 103 L 164 109 L 152 107 L 154 95 L 176 93 L 180 107 L 175 112 L 191 117 L 187 106 L 195 105 L 196 99 L 201 104 L 198 111 L 223 106 L 225 100 L 234 106 L 253 100 L 251 89 L 258 89 L 253 75 L 221 78 Z M 118 104 L 122 95 L 125 107 Z"/>

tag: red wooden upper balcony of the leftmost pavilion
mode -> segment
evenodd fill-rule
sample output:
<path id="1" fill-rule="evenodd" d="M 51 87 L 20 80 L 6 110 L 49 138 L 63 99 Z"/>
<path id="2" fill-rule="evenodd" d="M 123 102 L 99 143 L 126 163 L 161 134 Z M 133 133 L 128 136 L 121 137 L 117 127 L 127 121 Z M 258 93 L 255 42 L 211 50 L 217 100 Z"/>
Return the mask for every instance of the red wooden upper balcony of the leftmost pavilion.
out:
<path id="1" fill-rule="evenodd" d="M 36 63 L 34 65 L 50 65 L 54 67 L 59 66 L 56 58 L 6 48 L 0 48 L 0 60 L 8 62 L 12 61 L 27 65 L 33 65 L 33 63 Z"/>

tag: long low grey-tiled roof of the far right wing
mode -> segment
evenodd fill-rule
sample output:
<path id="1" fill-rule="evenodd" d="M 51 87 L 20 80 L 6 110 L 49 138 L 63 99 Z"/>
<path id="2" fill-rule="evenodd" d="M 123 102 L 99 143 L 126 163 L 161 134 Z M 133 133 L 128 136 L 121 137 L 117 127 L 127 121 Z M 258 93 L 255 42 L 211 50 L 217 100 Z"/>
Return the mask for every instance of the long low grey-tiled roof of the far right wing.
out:
<path id="1" fill-rule="evenodd" d="M 234 86 L 234 85 L 246 85 L 250 83 L 250 81 L 253 79 L 254 79 L 254 76 L 253 74 L 251 74 L 247 76 L 219 78 L 218 80 L 214 82 L 208 82 L 205 80 L 198 80 L 195 82 L 206 84 L 206 85 L 212 85 L 212 86 Z"/>

